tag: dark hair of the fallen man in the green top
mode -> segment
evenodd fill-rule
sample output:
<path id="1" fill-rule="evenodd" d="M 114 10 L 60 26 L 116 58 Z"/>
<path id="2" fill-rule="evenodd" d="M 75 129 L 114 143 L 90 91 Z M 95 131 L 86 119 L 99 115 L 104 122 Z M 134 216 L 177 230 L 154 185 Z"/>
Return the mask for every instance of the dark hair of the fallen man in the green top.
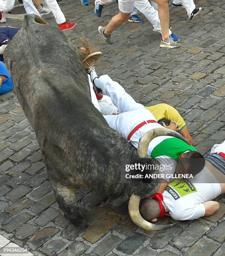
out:
<path id="1" fill-rule="evenodd" d="M 186 162 L 188 163 L 188 173 L 195 176 L 205 166 L 205 158 L 202 154 L 200 154 L 198 151 L 189 151 L 184 154 L 184 158 L 180 159 L 183 164 Z"/>

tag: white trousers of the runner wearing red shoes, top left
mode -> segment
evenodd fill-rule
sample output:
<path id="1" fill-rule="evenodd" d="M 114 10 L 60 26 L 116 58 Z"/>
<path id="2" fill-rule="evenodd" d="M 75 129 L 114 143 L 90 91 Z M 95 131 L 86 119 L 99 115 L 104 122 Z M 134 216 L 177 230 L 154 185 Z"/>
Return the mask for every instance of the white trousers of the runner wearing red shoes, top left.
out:
<path id="1" fill-rule="evenodd" d="M 66 21 L 65 16 L 62 13 L 57 1 L 56 0 L 45 0 L 45 2 L 47 4 L 48 8 L 52 11 L 52 14 L 55 17 L 56 23 L 57 24 L 64 23 Z M 32 0 L 23 0 L 23 5 L 26 10 L 26 13 L 35 14 L 35 15 L 40 16 L 40 13 L 35 8 L 35 5 L 32 3 Z"/>

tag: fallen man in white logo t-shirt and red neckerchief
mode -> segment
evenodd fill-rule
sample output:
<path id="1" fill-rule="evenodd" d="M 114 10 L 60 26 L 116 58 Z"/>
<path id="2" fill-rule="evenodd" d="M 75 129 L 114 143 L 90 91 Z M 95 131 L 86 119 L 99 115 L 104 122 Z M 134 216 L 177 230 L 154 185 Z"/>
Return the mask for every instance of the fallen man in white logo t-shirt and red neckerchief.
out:
<path id="1" fill-rule="evenodd" d="M 204 169 L 193 179 L 176 179 L 163 194 L 142 200 L 143 218 L 154 222 L 169 214 L 175 220 L 194 220 L 219 210 L 220 204 L 212 200 L 225 193 L 225 141 L 214 145 L 210 153 Z"/>

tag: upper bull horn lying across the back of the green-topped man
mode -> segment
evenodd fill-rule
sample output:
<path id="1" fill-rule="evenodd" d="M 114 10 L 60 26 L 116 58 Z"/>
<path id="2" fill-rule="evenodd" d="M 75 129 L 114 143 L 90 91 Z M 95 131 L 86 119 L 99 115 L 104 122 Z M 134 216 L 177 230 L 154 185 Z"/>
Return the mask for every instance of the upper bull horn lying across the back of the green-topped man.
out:
<path id="1" fill-rule="evenodd" d="M 138 143 L 138 156 L 142 158 L 148 158 L 148 145 L 153 138 L 158 136 L 173 136 L 190 143 L 180 134 L 167 128 L 155 128 L 145 133 Z"/>

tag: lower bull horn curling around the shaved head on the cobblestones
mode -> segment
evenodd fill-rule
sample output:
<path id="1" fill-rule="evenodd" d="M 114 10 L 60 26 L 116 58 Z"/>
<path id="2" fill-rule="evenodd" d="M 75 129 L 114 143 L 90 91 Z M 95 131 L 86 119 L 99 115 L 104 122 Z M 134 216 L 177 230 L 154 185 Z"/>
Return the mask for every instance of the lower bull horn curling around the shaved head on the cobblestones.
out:
<path id="1" fill-rule="evenodd" d="M 156 225 L 146 221 L 140 215 L 139 203 L 140 203 L 140 197 L 132 194 L 129 200 L 128 210 L 129 210 L 130 218 L 133 220 L 133 222 L 136 225 L 138 225 L 138 227 L 143 228 L 144 230 L 162 230 L 162 229 L 170 228 L 173 225 L 177 224 L 177 223 L 172 223 L 168 225 Z"/>

